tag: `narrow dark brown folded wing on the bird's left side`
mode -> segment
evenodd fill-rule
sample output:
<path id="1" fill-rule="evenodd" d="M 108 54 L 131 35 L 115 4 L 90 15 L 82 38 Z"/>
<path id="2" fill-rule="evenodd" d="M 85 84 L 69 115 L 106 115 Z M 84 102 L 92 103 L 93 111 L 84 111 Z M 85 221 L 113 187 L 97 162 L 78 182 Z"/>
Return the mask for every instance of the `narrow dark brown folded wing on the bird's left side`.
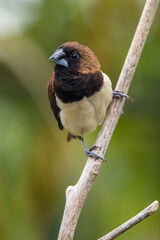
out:
<path id="1" fill-rule="evenodd" d="M 53 83 L 54 83 L 54 72 L 52 73 L 52 75 L 50 76 L 49 81 L 48 81 L 48 97 L 49 97 L 49 102 L 50 102 L 50 105 L 51 105 L 51 109 L 54 113 L 55 118 L 58 121 L 58 126 L 61 130 L 63 130 L 63 125 L 61 123 L 61 119 L 60 119 L 60 116 L 59 116 L 59 113 L 60 113 L 61 110 L 57 106 Z"/>

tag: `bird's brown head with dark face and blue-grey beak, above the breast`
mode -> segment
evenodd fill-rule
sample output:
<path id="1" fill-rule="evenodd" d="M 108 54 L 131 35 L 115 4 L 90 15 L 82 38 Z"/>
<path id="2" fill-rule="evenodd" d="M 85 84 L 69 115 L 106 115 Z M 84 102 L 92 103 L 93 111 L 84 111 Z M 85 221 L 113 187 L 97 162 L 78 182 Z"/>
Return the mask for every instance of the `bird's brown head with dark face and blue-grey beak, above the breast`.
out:
<path id="1" fill-rule="evenodd" d="M 78 42 L 62 44 L 49 60 L 55 63 L 55 70 L 60 69 L 75 74 L 94 73 L 100 69 L 100 63 L 92 50 Z"/>

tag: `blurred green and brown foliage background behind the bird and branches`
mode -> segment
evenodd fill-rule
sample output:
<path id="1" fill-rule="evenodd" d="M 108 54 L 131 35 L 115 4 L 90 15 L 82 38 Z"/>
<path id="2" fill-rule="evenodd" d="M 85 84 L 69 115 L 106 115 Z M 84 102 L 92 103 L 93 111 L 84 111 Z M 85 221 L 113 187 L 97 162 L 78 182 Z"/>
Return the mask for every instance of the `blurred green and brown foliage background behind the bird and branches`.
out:
<path id="1" fill-rule="evenodd" d="M 48 57 L 63 42 L 91 47 L 113 82 L 144 0 L 1 0 L 0 239 L 56 239 L 65 189 L 86 156 L 66 142 L 47 99 Z M 160 10 L 75 239 L 97 239 L 160 199 Z M 98 129 L 86 136 L 91 146 Z M 119 239 L 160 239 L 159 211 Z"/>

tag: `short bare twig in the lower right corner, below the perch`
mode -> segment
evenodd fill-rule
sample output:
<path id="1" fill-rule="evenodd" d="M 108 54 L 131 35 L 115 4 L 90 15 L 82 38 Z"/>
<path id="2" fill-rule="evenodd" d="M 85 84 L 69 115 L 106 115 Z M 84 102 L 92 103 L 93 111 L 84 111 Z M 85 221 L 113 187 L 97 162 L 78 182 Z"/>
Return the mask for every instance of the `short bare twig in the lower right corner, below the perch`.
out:
<path id="1" fill-rule="evenodd" d="M 130 229 L 131 227 L 135 226 L 137 223 L 143 221 L 145 218 L 151 216 L 155 211 L 157 211 L 159 207 L 158 201 L 154 201 L 151 205 L 146 207 L 143 211 L 138 213 L 136 216 L 128 220 L 127 222 L 123 223 L 118 228 L 114 229 L 104 237 L 99 238 L 98 240 L 112 240 Z"/>

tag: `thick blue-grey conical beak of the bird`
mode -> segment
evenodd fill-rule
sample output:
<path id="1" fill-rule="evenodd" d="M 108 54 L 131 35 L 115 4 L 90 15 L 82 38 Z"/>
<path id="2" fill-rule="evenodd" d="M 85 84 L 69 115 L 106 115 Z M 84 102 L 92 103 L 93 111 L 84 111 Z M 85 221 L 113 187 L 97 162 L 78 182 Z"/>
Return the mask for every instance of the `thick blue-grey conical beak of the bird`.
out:
<path id="1" fill-rule="evenodd" d="M 51 60 L 52 62 L 61 65 L 63 67 L 68 67 L 68 62 L 65 59 L 66 54 L 64 53 L 64 51 L 60 48 L 57 49 L 52 56 L 50 56 L 49 60 Z"/>

